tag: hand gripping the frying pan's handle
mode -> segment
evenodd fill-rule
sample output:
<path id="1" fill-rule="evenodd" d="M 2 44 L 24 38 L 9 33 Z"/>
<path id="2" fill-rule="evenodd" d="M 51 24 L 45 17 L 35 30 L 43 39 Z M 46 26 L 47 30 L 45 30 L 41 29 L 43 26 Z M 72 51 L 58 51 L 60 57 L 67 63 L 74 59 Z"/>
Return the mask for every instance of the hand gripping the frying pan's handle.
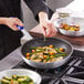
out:
<path id="1" fill-rule="evenodd" d="M 19 30 L 17 25 L 23 27 L 23 23 L 18 18 L 4 18 L 3 20 L 4 20 L 3 24 L 8 25 L 10 29 L 14 31 Z"/>

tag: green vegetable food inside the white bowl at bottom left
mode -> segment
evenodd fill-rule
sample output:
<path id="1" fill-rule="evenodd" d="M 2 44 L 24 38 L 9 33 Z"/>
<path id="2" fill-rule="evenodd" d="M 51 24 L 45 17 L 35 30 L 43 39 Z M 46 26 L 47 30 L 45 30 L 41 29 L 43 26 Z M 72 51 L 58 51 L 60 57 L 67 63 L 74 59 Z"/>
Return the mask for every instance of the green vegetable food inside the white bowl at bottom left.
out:
<path id="1" fill-rule="evenodd" d="M 29 76 L 12 75 L 12 77 L 4 76 L 0 80 L 0 84 L 34 84 Z"/>

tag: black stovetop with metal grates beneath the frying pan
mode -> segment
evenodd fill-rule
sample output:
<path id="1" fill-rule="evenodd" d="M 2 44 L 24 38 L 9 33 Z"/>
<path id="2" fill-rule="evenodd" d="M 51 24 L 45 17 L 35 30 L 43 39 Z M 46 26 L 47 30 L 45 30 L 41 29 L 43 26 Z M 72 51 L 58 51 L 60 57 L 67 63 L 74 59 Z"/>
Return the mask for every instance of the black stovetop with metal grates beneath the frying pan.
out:
<path id="1" fill-rule="evenodd" d="M 74 51 L 70 61 L 57 69 L 42 70 L 21 61 L 13 69 L 28 69 L 42 76 L 41 84 L 84 84 L 84 52 Z"/>

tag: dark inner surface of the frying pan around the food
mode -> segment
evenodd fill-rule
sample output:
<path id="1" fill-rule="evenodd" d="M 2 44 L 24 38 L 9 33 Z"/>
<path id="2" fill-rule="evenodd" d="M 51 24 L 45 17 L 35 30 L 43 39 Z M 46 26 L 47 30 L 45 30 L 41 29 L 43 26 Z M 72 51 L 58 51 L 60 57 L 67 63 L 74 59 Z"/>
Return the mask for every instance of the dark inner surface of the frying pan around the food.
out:
<path id="1" fill-rule="evenodd" d="M 28 52 L 30 52 L 30 48 L 31 46 L 45 46 L 45 45 L 54 45 L 56 48 L 64 48 L 65 52 L 67 53 L 67 55 L 71 53 L 72 51 L 72 46 L 69 42 L 61 40 L 61 39 L 56 39 L 56 38 L 46 38 L 46 41 L 44 41 L 43 38 L 38 38 L 38 39 L 33 39 L 31 41 L 28 41 L 23 46 L 22 46 L 22 55 L 25 56 L 25 54 Z"/>

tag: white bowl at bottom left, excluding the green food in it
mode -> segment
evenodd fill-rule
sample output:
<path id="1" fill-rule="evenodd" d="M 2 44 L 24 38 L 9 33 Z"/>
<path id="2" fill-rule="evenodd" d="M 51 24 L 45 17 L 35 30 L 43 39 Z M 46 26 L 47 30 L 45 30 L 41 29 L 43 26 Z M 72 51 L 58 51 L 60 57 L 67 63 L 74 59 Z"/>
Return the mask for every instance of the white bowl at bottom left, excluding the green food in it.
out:
<path id="1" fill-rule="evenodd" d="M 41 83 L 41 80 L 42 77 L 34 71 L 31 71 L 31 70 L 21 70 L 21 69 L 12 69 L 12 70 L 6 70 L 6 71 L 2 71 L 0 72 L 0 80 L 3 78 L 3 76 L 9 76 L 11 77 L 12 75 L 23 75 L 23 76 L 30 76 L 34 84 L 40 84 Z"/>

